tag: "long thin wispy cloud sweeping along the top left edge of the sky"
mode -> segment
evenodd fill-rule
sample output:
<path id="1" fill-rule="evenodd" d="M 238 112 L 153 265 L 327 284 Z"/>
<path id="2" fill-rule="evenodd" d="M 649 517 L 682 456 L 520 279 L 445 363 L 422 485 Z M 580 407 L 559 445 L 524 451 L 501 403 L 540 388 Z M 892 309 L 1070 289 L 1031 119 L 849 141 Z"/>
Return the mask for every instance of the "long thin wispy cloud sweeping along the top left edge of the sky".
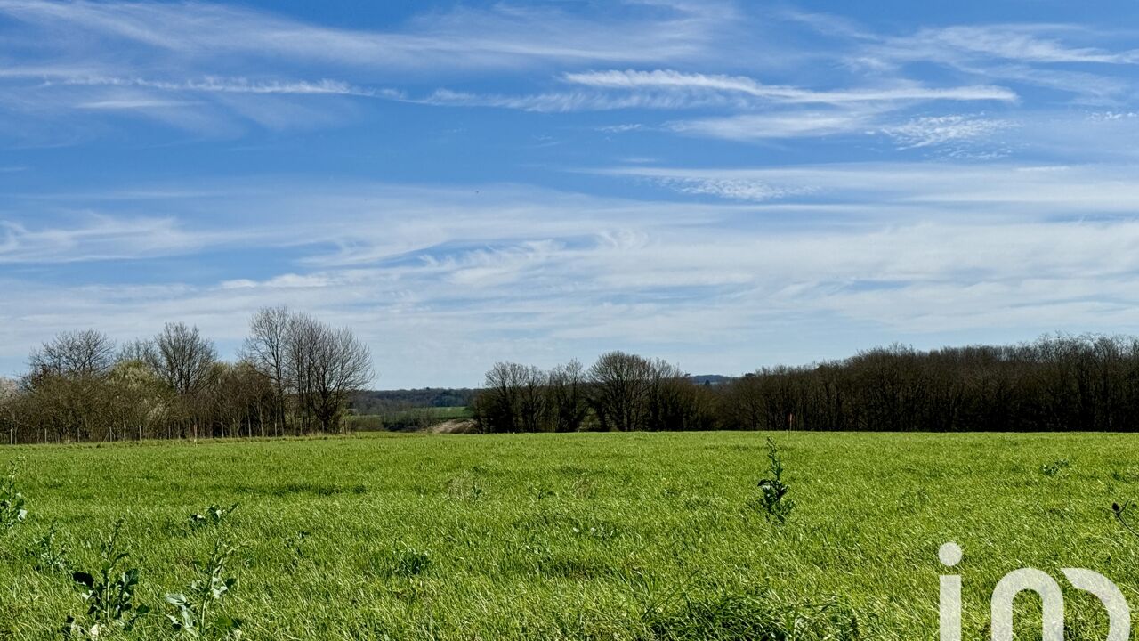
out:
<path id="1" fill-rule="evenodd" d="M 624 3 L 601 15 L 552 7 L 454 8 L 398 30 L 309 24 L 221 3 L 3 0 L 0 14 L 48 31 L 80 31 L 178 57 L 286 56 L 363 67 L 501 67 L 554 60 L 655 62 L 699 52 L 731 19 L 722 3 Z M 57 43 L 62 44 L 62 43 Z"/>

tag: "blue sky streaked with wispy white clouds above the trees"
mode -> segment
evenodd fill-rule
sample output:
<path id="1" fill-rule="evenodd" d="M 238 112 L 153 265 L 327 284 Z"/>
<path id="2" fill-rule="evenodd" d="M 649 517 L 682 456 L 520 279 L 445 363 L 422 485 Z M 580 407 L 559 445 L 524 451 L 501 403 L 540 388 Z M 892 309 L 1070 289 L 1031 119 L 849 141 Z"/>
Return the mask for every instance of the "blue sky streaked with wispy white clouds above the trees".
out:
<path id="1" fill-rule="evenodd" d="M 0 0 L 0 374 L 256 309 L 374 387 L 1139 325 L 1139 3 Z"/>

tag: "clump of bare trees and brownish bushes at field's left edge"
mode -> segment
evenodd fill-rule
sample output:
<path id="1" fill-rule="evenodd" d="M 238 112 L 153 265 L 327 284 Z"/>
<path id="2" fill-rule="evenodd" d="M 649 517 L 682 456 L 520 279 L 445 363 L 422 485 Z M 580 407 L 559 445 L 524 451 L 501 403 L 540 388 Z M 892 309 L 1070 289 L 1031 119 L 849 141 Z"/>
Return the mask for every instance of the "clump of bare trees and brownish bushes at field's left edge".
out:
<path id="1" fill-rule="evenodd" d="M 0 379 L 0 433 L 15 444 L 338 432 L 371 378 L 351 330 L 285 307 L 252 317 L 236 363 L 185 323 L 122 346 L 63 332 L 18 381 Z"/>

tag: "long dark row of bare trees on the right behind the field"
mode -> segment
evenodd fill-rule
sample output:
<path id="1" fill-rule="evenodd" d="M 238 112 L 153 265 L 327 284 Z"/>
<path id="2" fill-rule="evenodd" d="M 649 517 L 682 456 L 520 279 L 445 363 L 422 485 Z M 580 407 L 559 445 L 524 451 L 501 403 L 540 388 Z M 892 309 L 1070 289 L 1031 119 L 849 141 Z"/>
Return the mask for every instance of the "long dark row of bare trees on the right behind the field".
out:
<path id="1" fill-rule="evenodd" d="M 894 344 L 721 384 L 620 351 L 589 368 L 499 363 L 474 405 L 486 432 L 1139 431 L 1139 339 L 1055 335 L 932 351 Z"/>

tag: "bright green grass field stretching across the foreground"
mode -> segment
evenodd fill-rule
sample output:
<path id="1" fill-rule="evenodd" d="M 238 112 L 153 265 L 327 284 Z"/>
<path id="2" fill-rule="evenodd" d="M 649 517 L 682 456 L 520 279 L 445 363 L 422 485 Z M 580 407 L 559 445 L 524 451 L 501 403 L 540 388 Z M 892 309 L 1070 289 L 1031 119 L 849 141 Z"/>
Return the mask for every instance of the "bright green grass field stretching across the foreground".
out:
<path id="1" fill-rule="evenodd" d="M 767 436 L 796 502 L 781 526 L 754 504 Z M 156 610 L 129 638 L 170 639 L 163 594 L 228 538 L 241 547 L 224 612 L 244 639 L 935 639 L 948 571 L 964 577 L 965 638 L 983 639 L 993 586 L 1024 566 L 1100 571 L 1139 605 L 1139 539 L 1109 510 L 1139 498 L 1137 455 L 1128 435 L 7 447 L 30 516 L 0 535 L 0 639 L 49 639 L 82 618 L 67 573 L 35 569 L 26 550 L 55 525 L 69 562 L 92 568 L 120 517 L 136 601 Z M 1042 471 L 1058 460 L 1070 465 Z M 231 503 L 220 524 L 190 527 Z M 948 541 L 965 550 L 953 570 L 937 561 Z M 1068 638 L 1103 639 L 1096 601 L 1065 590 Z M 1033 616 L 1019 638 L 1039 638 Z"/>

